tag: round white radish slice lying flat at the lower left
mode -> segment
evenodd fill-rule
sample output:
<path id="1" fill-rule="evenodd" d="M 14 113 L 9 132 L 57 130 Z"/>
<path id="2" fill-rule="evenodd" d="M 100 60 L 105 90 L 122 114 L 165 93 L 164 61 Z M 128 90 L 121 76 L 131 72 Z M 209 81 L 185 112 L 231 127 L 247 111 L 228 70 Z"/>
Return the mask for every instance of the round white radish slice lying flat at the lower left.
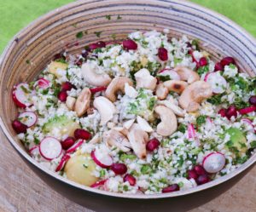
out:
<path id="1" fill-rule="evenodd" d="M 61 142 L 54 137 L 45 137 L 39 145 L 40 154 L 47 160 L 58 158 L 61 155 Z"/>

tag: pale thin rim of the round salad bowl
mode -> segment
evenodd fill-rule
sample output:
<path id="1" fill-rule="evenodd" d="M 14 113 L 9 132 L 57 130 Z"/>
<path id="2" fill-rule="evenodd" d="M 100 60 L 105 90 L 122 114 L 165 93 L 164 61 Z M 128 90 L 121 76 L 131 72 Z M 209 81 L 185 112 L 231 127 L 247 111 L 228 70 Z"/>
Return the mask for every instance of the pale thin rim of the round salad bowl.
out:
<path id="1" fill-rule="evenodd" d="M 91 1 L 91 2 L 93 2 L 93 1 Z M 250 43 L 253 43 L 256 46 L 256 39 L 250 33 L 248 33 L 241 26 L 238 26 L 233 20 L 230 20 L 223 14 L 219 14 L 218 12 L 212 11 L 212 9 L 207 9 L 201 5 L 198 5 L 197 3 L 188 2 L 187 0 L 183 1 L 182 3 L 178 0 L 164 0 L 164 2 L 180 3 L 183 5 L 187 5 L 191 8 L 201 9 L 201 11 L 206 13 L 207 15 L 213 15 L 215 17 L 219 17 L 218 20 L 224 21 L 224 23 L 232 26 L 233 28 L 236 28 L 236 30 L 238 32 L 240 32 L 243 36 L 245 36 L 244 38 L 247 38 L 247 40 Z M 62 9 L 68 8 L 70 6 L 75 6 L 76 4 L 79 4 L 79 3 L 81 3 L 81 1 L 67 3 L 57 9 L 60 11 Z M 22 28 L 20 30 L 20 32 L 16 33 L 15 36 L 9 41 L 8 45 L 5 47 L 5 49 L 3 50 L 3 53 L 0 56 L 0 66 L 3 63 L 3 59 L 6 56 L 8 56 L 8 53 L 11 51 L 12 46 L 13 46 L 12 44 L 15 43 L 15 37 L 19 37 L 19 35 L 22 34 L 22 32 L 25 32 L 26 29 L 32 27 L 36 23 L 40 23 L 41 20 L 45 20 L 51 14 L 54 14 L 55 11 L 56 11 L 56 9 L 53 9 L 53 10 L 49 11 L 47 14 L 43 14 L 43 15 L 39 16 L 38 19 L 33 20 L 30 24 L 28 24 L 27 26 Z M 256 162 L 256 153 L 254 153 L 253 156 L 251 158 L 249 158 L 246 163 L 243 163 L 240 168 L 232 171 L 230 174 L 224 175 L 224 176 L 218 178 L 217 180 L 212 180 L 211 182 L 208 182 L 207 184 L 204 184 L 201 186 L 195 186 L 193 188 L 189 188 L 188 190 L 184 190 L 184 191 L 160 193 L 160 194 L 150 194 L 150 195 L 106 192 L 106 191 L 97 190 L 95 188 L 91 188 L 90 186 L 80 185 L 79 183 L 73 182 L 72 180 L 65 179 L 64 177 L 62 177 L 60 175 L 56 175 L 53 171 L 46 169 L 44 166 L 40 165 L 38 162 L 36 162 L 34 159 L 32 159 L 29 156 L 29 154 L 16 143 L 16 141 L 13 139 L 13 136 L 9 134 L 8 129 L 5 127 L 5 125 L 3 123 L 2 116 L 0 116 L 0 127 L 1 127 L 1 129 L 3 129 L 3 133 L 9 140 L 9 143 L 11 144 L 11 146 L 13 146 L 15 148 L 15 150 L 23 158 L 26 159 L 26 161 L 31 163 L 36 168 L 44 171 L 45 174 L 55 178 L 56 180 L 61 180 L 61 182 L 67 184 L 67 186 L 69 185 L 69 186 L 73 186 L 73 187 L 76 187 L 78 189 L 81 189 L 81 190 L 84 190 L 87 192 L 93 192 L 93 193 L 97 193 L 97 194 L 101 194 L 101 195 L 105 195 L 105 196 L 109 196 L 109 197 L 115 197 L 115 198 L 131 198 L 131 199 L 175 198 L 175 197 L 179 197 L 179 196 L 189 195 L 194 192 L 201 192 L 201 191 L 211 188 L 213 186 L 218 186 L 219 184 L 224 183 L 226 180 L 230 180 L 231 178 L 235 177 L 236 175 L 241 174 L 241 172 L 243 172 L 245 169 L 248 169 L 250 166 L 253 166 Z"/>

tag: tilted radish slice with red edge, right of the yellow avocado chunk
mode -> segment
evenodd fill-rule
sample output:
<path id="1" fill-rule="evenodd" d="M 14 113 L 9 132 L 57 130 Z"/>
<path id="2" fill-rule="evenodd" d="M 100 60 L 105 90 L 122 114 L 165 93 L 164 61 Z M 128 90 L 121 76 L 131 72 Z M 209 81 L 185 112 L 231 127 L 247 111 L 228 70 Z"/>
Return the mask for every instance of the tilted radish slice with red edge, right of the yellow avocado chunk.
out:
<path id="1" fill-rule="evenodd" d="M 113 159 L 110 157 L 110 155 L 106 153 L 104 154 L 97 149 L 92 151 L 90 156 L 94 162 L 102 168 L 107 169 L 113 164 Z"/>

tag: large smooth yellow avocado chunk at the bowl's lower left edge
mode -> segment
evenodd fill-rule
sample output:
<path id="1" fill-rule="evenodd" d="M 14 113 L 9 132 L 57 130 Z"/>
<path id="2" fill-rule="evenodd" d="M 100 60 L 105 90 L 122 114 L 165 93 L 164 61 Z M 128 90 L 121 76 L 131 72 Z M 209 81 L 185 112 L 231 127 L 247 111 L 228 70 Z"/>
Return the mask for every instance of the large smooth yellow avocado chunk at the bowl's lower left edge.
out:
<path id="1" fill-rule="evenodd" d="M 96 163 L 90 158 L 90 154 L 75 155 L 65 165 L 67 179 L 73 180 L 84 186 L 91 186 L 99 180 L 93 171 L 96 170 Z"/>

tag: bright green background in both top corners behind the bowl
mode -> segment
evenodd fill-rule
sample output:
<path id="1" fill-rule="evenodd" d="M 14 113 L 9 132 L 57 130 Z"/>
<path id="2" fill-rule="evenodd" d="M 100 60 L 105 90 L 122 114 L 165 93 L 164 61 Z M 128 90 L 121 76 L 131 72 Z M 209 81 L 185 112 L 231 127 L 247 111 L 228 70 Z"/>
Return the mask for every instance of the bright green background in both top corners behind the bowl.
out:
<path id="1" fill-rule="evenodd" d="M 191 0 L 224 14 L 256 37 L 256 0 Z M 39 15 L 72 0 L 0 0 L 0 53 L 9 40 Z"/>

